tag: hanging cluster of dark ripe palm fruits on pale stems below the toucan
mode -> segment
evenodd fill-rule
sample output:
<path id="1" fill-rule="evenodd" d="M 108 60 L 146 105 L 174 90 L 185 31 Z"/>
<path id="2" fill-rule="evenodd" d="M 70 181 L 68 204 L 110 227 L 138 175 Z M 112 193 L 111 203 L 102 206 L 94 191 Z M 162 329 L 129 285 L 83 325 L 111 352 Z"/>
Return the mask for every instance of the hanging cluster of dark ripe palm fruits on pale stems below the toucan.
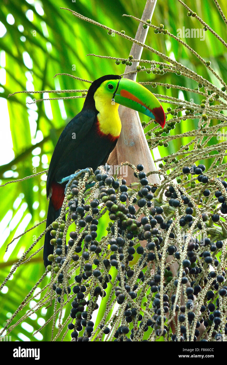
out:
<path id="1" fill-rule="evenodd" d="M 198 199 L 166 178 L 158 197 L 161 187 L 149 184 L 141 164 L 130 166 L 137 178 L 133 187 L 105 167 L 72 181 L 66 223 L 52 224 L 55 250 L 47 269 L 53 268 L 59 311 L 71 304 L 64 331 L 71 331 L 72 341 L 224 341 L 227 237 L 217 222 L 226 182 L 209 178 L 204 165 L 184 166 L 183 174 L 197 174 L 203 184 Z M 96 183 L 86 189 L 88 178 Z M 206 184 L 215 186 L 218 199 L 211 212 L 203 207 Z M 99 237 L 104 214 L 107 234 Z M 95 323 L 99 298 L 106 301 L 105 313 Z"/>

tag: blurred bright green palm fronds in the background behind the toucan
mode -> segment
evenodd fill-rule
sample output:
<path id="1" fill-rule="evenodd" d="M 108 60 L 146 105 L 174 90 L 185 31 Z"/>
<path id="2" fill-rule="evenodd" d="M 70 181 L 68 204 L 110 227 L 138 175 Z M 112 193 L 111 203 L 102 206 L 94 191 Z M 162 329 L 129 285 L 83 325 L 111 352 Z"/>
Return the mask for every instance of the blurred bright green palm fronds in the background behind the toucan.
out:
<path id="1" fill-rule="evenodd" d="M 90 84 L 74 80 L 56 73 L 70 73 L 74 76 L 95 80 L 104 74 L 124 72 L 124 65 L 117 66 L 113 60 L 88 56 L 88 53 L 127 58 L 132 43 L 107 32 L 97 26 L 75 18 L 70 12 L 61 10 L 68 7 L 97 20 L 115 30 L 124 30 L 134 37 L 138 23 L 122 14 L 141 17 L 146 1 L 143 0 L 3 0 L 0 8 L 0 179 L 1 184 L 15 178 L 23 178 L 48 168 L 48 163 L 60 132 L 64 126 L 81 110 L 84 99 L 54 100 L 37 104 L 26 104 L 34 98 L 56 97 L 56 94 L 8 94 L 22 90 L 59 90 L 87 89 Z M 226 26 L 217 11 L 213 0 L 186 0 L 185 3 L 196 11 L 219 35 L 226 40 Z M 227 14 L 226 0 L 219 0 L 224 14 Z M 163 23 L 173 34 L 177 29 L 201 28 L 194 18 L 187 17 L 187 10 L 176 0 L 158 0 L 152 23 Z M 212 67 L 224 78 L 227 72 L 227 52 L 225 47 L 210 33 L 206 32 L 206 40 L 196 38 L 184 39 L 204 59 L 212 62 Z M 148 31 L 146 44 L 167 54 L 191 68 L 215 85 L 220 86 L 214 76 L 183 46 L 163 34 Z M 155 59 L 156 55 L 144 50 L 143 59 Z M 162 61 L 162 60 L 161 60 Z M 142 64 L 141 64 L 142 65 Z M 137 81 L 159 81 L 177 84 L 189 88 L 197 84 L 185 77 L 167 73 L 163 76 L 140 73 Z M 180 97 L 195 103 L 201 101 L 200 96 L 177 89 L 167 90 L 157 87 L 156 93 Z M 63 96 L 81 95 L 62 94 Z M 164 108 L 168 107 L 164 105 Z M 146 120 L 146 119 L 145 119 Z M 147 119 L 148 120 L 148 119 Z M 198 120 L 181 121 L 171 134 L 179 134 L 197 127 Z M 161 156 L 176 152 L 182 144 L 189 142 L 187 138 L 177 139 L 169 147 L 160 147 Z M 211 142 L 210 142 L 211 143 Z M 207 160 L 208 161 L 208 160 Z M 207 162 L 208 163 L 208 162 Z M 44 230 L 45 223 L 15 240 L 7 252 L 7 244 L 26 229 L 46 218 L 46 176 L 9 184 L 0 189 L 0 281 L 2 282 L 14 262 Z M 99 236 L 105 234 L 104 217 L 99 224 Z M 37 248 L 43 244 L 41 240 Z M 33 252 L 33 251 L 31 251 Z M 0 328 L 5 320 L 17 309 L 21 301 L 34 286 L 44 272 L 42 252 L 28 264 L 22 265 L 9 280 L 0 293 Z M 44 280 L 41 287 L 46 284 Z M 31 306 L 35 302 L 31 302 Z M 101 307 L 100 307 L 101 308 Z M 64 314 L 64 318 L 69 315 Z M 12 331 L 12 341 L 49 341 L 51 324 L 41 333 L 31 337 L 35 330 L 51 315 L 52 309 L 39 311 Z M 25 314 L 25 310 L 22 311 Z M 101 310 L 99 311 L 99 316 Z M 70 335 L 66 340 L 70 341 Z"/>

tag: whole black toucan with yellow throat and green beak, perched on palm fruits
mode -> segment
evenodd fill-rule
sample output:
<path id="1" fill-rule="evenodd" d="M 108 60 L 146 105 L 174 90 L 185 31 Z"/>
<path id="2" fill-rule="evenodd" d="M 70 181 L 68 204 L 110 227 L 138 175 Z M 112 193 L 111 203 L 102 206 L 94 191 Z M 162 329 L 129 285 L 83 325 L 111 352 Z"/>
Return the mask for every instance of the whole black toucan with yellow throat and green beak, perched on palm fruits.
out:
<path id="1" fill-rule="evenodd" d="M 121 133 L 119 104 L 137 110 L 164 127 L 165 112 L 156 97 L 138 82 L 105 75 L 92 82 L 83 108 L 64 128 L 55 146 L 47 174 L 49 206 L 46 227 L 60 215 L 66 180 L 76 170 L 104 165 Z M 50 230 L 45 235 L 43 261 L 54 252 Z"/>

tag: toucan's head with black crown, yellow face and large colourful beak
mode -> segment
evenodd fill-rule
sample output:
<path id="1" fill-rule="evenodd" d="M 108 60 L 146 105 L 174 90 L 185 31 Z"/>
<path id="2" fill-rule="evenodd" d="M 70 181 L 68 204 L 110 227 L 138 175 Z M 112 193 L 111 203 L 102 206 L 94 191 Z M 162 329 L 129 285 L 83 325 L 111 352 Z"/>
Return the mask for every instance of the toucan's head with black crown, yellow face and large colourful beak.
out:
<path id="1" fill-rule="evenodd" d="M 148 115 L 162 128 L 165 125 L 165 112 L 157 98 L 143 85 L 128 78 L 106 75 L 95 80 L 87 92 L 84 108 L 91 107 L 92 103 L 97 110 L 99 104 L 121 104 Z"/>

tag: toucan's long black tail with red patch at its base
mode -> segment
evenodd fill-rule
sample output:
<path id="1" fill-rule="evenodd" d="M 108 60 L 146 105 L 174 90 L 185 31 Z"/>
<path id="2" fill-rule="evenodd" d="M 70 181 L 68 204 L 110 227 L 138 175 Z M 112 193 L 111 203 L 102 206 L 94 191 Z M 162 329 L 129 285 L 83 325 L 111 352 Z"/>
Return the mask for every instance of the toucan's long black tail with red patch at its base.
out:
<path id="1" fill-rule="evenodd" d="M 46 228 L 50 226 L 50 224 L 59 217 L 62 209 L 63 200 L 64 200 L 64 187 L 58 183 L 52 184 L 52 196 L 50 197 L 49 200 Z M 63 220 L 65 221 L 65 216 L 63 217 Z M 43 262 L 45 268 L 47 267 L 47 265 L 51 265 L 51 262 L 48 260 L 48 255 L 54 252 L 54 246 L 50 244 L 50 240 L 51 238 L 53 238 L 50 232 L 51 230 L 49 230 L 46 233 L 44 239 Z"/>

